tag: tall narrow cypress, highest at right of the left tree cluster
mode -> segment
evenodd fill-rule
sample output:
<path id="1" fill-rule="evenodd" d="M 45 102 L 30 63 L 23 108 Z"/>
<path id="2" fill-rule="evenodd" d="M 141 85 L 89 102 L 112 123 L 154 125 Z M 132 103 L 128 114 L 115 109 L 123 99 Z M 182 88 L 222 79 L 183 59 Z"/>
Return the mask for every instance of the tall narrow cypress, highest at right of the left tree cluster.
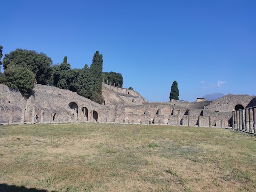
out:
<path id="1" fill-rule="evenodd" d="M 91 82 L 91 93 L 92 98 L 89 98 L 95 102 L 102 104 L 102 65 L 103 59 L 102 54 L 96 51 L 93 59 L 92 65 L 90 66 L 90 82 Z"/>

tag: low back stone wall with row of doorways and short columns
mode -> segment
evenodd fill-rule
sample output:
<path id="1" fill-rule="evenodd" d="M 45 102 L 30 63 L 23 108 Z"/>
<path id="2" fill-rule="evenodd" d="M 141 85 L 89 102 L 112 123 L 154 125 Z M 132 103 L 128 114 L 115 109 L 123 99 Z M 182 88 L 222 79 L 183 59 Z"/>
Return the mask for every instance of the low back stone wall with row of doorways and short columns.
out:
<path id="1" fill-rule="evenodd" d="M 231 117 L 231 113 L 188 108 L 170 103 L 143 103 L 119 108 L 115 113 L 115 123 L 229 127 L 232 125 Z"/>

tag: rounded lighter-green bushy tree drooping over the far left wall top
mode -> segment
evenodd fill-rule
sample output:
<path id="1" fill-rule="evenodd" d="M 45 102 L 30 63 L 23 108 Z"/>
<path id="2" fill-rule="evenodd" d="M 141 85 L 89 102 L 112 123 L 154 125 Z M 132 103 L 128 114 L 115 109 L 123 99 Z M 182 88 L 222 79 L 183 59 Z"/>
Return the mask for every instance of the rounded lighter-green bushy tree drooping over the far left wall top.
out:
<path id="1" fill-rule="evenodd" d="M 0 83 L 19 89 L 23 95 L 27 96 L 34 88 L 36 79 L 35 74 L 29 69 L 10 66 L 0 76 Z"/>

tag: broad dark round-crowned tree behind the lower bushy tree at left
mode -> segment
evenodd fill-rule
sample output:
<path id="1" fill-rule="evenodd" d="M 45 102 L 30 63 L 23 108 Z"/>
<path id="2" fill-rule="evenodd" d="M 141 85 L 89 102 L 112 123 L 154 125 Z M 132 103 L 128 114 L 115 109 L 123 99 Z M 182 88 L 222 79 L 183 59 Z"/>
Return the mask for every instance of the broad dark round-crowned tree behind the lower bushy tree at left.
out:
<path id="1" fill-rule="evenodd" d="M 47 85 L 51 77 L 52 59 L 44 53 L 17 49 L 5 54 L 3 59 L 4 69 L 10 66 L 27 68 L 35 74 L 38 84 Z"/>

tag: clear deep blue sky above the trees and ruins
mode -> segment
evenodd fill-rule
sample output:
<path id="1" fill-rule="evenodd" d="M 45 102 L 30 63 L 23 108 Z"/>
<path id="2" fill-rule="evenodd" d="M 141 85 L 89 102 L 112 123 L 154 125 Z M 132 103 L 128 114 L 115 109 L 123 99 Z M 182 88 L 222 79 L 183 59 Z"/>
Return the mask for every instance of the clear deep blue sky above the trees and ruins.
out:
<path id="1" fill-rule="evenodd" d="M 1 1 L 3 54 L 43 52 L 71 68 L 103 55 L 149 101 L 256 95 L 256 1 Z"/>

